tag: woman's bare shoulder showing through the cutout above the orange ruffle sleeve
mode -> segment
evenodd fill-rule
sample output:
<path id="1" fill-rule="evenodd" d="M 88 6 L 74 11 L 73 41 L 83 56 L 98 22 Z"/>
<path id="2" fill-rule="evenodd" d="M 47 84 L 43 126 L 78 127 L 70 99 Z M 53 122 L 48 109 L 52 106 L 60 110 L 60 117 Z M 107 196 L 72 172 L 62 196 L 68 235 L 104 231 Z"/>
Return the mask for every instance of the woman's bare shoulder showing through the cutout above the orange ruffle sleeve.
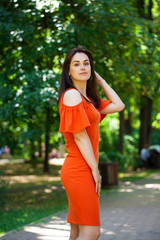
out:
<path id="1" fill-rule="evenodd" d="M 70 89 L 63 96 L 63 103 L 66 106 L 75 106 L 82 102 L 81 94 L 76 89 Z"/>

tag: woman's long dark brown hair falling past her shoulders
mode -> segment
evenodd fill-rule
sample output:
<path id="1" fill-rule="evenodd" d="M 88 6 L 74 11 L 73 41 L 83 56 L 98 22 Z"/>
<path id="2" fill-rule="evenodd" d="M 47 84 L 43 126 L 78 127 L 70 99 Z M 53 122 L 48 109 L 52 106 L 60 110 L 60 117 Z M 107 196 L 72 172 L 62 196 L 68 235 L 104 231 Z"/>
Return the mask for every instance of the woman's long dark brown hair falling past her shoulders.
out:
<path id="1" fill-rule="evenodd" d="M 62 81 L 61 81 L 60 90 L 59 90 L 58 103 L 59 103 L 60 98 L 64 91 L 66 91 L 69 88 L 75 88 L 68 73 L 69 73 L 71 59 L 74 56 L 74 54 L 77 52 L 85 53 L 89 58 L 89 62 L 91 65 L 91 76 L 87 81 L 86 93 L 91 99 L 94 100 L 95 107 L 99 108 L 100 107 L 100 97 L 99 97 L 99 91 L 98 91 L 98 86 L 97 86 L 97 81 L 96 81 L 96 75 L 94 73 L 92 53 L 90 51 L 84 49 L 81 46 L 78 46 L 77 48 L 73 48 L 72 50 L 70 50 L 65 58 L 65 61 L 63 64 Z"/>

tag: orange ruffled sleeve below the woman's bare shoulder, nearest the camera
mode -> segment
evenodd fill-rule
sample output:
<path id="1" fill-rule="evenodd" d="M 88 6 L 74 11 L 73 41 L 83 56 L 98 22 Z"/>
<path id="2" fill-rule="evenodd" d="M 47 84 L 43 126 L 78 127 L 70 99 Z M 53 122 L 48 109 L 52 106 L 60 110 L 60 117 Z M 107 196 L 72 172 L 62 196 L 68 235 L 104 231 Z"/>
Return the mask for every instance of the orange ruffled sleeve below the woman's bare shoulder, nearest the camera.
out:
<path id="1" fill-rule="evenodd" d="M 62 103 L 60 119 L 59 132 L 62 133 L 77 133 L 91 126 L 83 101 L 75 106 L 66 106 Z"/>

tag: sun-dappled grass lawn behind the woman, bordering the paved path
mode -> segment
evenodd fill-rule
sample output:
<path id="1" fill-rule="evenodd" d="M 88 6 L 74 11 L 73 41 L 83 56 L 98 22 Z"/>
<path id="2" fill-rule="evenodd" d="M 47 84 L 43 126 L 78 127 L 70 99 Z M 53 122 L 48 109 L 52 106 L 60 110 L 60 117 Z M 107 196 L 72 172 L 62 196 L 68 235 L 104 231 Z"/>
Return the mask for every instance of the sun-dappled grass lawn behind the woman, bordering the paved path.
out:
<path id="1" fill-rule="evenodd" d="M 6 207 L 0 213 L 0 234 L 18 229 L 31 222 L 66 209 L 67 196 L 60 181 L 61 166 L 50 165 L 50 173 L 43 173 L 43 165 L 27 163 L 1 165 L 9 180 Z M 155 170 L 120 173 L 120 181 L 145 178 Z M 106 191 L 102 190 L 102 194 Z"/>

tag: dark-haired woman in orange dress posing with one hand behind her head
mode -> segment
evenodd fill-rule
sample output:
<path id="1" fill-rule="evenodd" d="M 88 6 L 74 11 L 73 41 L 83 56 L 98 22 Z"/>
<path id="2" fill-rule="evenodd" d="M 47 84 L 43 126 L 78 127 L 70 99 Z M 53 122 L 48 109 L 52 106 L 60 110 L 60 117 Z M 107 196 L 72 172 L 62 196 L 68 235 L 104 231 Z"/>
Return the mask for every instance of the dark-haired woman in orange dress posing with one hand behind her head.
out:
<path id="1" fill-rule="evenodd" d="M 99 97 L 97 84 L 109 100 Z M 64 61 L 59 94 L 59 131 L 68 151 L 61 180 L 68 196 L 70 240 L 97 240 L 100 236 L 99 123 L 106 114 L 124 107 L 94 71 L 91 52 L 82 47 L 72 49 Z"/>

